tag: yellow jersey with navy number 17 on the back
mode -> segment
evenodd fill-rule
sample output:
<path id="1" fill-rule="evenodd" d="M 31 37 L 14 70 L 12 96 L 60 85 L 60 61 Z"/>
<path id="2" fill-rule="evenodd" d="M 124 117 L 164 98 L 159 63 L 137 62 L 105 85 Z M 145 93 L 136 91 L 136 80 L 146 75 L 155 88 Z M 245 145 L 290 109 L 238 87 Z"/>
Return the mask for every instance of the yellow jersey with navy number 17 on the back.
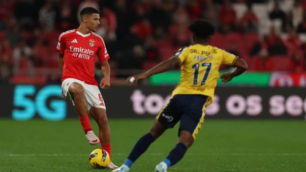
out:
<path id="1" fill-rule="evenodd" d="M 238 57 L 210 45 L 195 44 L 182 47 L 175 54 L 181 66 L 181 80 L 176 94 L 202 94 L 208 96 L 206 106 L 213 102 L 215 87 L 222 64 L 232 65 Z"/>

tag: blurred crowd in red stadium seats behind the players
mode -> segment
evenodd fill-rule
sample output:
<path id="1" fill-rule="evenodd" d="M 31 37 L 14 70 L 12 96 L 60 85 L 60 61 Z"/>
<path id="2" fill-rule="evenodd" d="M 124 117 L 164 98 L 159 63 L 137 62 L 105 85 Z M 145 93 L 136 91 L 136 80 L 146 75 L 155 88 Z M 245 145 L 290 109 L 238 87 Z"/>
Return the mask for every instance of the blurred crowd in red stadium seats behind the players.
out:
<path id="1" fill-rule="evenodd" d="M 258 34 L 261 19 L 253 5 L 267 0 L 0 0 L 0 83 L 60 83 L 58 36 L 79 26 L 86 6 L 100 11 L 96 33 L 110 54 L 112 77 L 151 68 L 190 44 L 187 26 L 197 18 L 215 25 L 212 45 L 244 58 L 251 70 L 302 72 L 306 0 L 292 1 L 289 11 L 273 2 L 266 13 L 281 21 L 280 29 L 271 25 L 270 33 Z M 240 16 L 237 4 L 245 9 Z M 96 71 L 101 76 L 98 64 Z"/>

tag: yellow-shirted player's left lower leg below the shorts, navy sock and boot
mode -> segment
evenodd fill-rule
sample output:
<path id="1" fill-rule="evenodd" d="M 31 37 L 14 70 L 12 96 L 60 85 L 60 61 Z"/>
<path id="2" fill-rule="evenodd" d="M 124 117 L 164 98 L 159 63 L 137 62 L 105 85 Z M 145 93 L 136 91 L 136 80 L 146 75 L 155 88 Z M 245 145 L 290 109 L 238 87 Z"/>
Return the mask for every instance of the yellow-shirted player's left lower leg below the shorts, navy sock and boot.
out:
<path id="1" fill-rule="evenodd" d="M 167 128 L 165 126 L 163 126 L 157 119 L 155 119 L 151 130 L 137 141 L 124 164 L 112 172 L 129 171 L 136 159 L 138 159 L 144 152 L 146 152 L 151 143 L 153 143 L 159 136 L 161 136 L 166 129 Z"/>

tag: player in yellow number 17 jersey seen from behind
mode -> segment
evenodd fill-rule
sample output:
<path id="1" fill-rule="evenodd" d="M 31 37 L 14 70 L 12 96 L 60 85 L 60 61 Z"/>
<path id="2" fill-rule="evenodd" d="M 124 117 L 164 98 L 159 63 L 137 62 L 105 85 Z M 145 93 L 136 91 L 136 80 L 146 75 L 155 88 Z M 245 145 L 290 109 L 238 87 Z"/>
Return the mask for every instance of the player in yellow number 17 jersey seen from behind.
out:
<path id="1" fill-rule="evenodd" d="M 166 172 L 170 166 L 180 161 L 192 145 L 204 121 L 205 109 L 213 102 L 217 80 L 229 82 L 233 77 L 247 70 L 246 62 L 222 49 L 208 45 L 215 28 L 205 20 L 198 19 L 188 27 L 192 32 L 193 45 L 182 47 L 168 60 L 161 62 L 140 75 L 130 76 L 130 85 L 136 85 L 139 79 L 181 67 L 181 81 L 172 92 L 172 98 L 162 108 L 151 130 L 139 139 L 128 159 L 113 172 L 127 172 L 132 164 L 162 133 L 173 128 L 181 121 L 178 131 L 178 143 L 169 155 L 159 163 L 155 172 Z M 232 65 L 236 69 L 219 76 L 222 64 Z M 131 80 L 132 79 L 132 80 Z"/>

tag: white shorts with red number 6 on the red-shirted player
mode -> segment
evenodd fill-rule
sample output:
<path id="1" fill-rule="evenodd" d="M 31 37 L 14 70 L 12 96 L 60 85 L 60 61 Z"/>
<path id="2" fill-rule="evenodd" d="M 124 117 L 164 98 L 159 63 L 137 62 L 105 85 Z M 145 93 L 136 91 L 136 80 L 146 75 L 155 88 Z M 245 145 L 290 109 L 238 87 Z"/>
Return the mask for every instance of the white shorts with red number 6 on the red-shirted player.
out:
<path id="1" fill-rule="evenodd" d="M 69 94 L 70 100 L 72 101 L 73 105 L 74 105 L 73 99 L 68 91 L 70 84 L 72 84 L 73 82 L 77 82 L 84 87 L 84 94 L 85 94 L 84 97 L 87 103 L 88 113 L 89 113 L 91 106 L 96 107 L 96 108 L 106 109 L 103 97 L 101 95 L 101 92 L 98 86 L 86 84 L 78 79 L 67 78 L 62 83 L 62 91 L 66 97 L 67 97 L 67 94 Z"/>

